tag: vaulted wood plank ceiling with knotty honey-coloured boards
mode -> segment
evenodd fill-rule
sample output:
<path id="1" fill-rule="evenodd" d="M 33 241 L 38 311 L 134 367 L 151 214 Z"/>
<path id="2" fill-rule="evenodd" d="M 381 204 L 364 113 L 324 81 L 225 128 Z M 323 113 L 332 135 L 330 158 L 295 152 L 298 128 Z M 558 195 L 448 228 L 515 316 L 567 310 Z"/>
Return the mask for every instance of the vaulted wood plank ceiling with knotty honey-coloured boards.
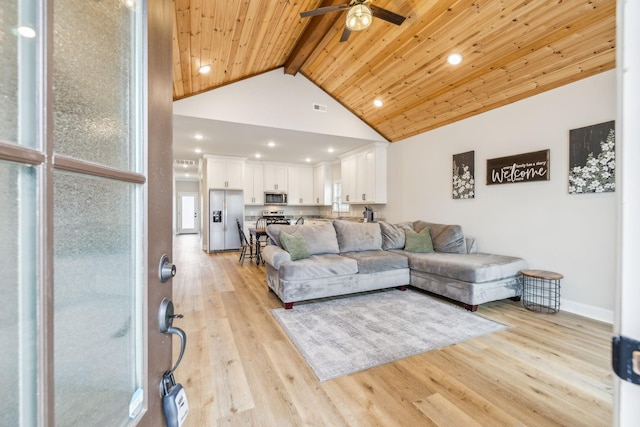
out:
<path id="1" fill-rule="evenodd" d="M 395 142 L 615 67 L 615 0 L 376 0 L 405 22 L 344 43 L 346 12 L 300 18 L 345 3 L 174 0 L 174 100 L 283 67 Z"/>

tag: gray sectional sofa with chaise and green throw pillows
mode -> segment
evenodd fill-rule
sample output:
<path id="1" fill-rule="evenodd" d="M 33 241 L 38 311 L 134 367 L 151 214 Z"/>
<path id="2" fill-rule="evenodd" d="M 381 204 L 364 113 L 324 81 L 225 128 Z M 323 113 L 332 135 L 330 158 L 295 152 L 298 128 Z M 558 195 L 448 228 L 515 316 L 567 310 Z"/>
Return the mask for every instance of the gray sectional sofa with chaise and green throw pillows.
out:
<path id="1" fill-rule="evenodd" d="M 414 244 L 425 243 L 427 232 L 432 251 Z M 475 311 L 488 301 L 519 300 L 520 271 L 527 268 L 521 258 L 478 253 L 458 225 L 334 220 L 273 224 L 267 234 L 267 285 L 287 309 L 299 301 L 411 285 Z M 304 246 L 302 254 L 291 242 Z"/>

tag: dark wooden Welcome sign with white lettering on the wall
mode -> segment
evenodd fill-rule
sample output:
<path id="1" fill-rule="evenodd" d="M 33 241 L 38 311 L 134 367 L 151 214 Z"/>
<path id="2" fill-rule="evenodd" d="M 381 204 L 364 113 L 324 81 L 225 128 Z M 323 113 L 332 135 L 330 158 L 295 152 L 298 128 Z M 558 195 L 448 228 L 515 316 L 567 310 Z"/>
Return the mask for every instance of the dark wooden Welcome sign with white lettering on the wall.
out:
<path id="1" fill-rule="evenodd" d="M 487 185 L 548 180 L 549 150 L 487 160 Z"/>

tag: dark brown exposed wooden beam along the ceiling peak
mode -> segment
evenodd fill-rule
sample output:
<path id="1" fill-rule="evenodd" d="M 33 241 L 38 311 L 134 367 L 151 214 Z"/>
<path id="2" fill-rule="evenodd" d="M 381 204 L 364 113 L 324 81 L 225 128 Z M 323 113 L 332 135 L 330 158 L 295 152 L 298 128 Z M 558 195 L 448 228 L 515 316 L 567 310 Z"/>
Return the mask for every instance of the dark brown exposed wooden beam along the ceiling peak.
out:
<path id="1" fill-rule="evenodd" d="M 318 8 L 339 4 L 345 4 L 345 0 L 324 0 Z M 291 55 L 285 61 L 284 73 L 295 76 L 311 53 L 318 47 L 327 31 L 336 25 L 338 20 L 344 19 L 344 16 L 344 11 L 339 11 L 304 18 L 309 19 L 310 22 L 291 51 Z"/>

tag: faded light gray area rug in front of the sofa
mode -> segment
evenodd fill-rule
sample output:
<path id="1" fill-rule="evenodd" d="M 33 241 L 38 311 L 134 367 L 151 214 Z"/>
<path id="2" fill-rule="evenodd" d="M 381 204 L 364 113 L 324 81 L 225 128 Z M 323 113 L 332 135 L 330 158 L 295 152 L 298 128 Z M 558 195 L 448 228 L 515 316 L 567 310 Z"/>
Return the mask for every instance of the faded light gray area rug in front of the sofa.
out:
<path id="1" fill-rule="evenodd" d="M 320 381 L 507 328 L 413 290 L 271 311 Z"/>

